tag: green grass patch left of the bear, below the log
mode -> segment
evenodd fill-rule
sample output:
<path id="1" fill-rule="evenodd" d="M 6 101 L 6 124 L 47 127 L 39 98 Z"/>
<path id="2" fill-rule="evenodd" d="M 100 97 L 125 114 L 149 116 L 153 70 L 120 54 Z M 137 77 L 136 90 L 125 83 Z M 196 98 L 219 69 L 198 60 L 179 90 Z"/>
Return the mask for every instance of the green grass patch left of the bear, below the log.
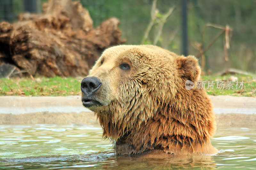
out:
<path id="1" fill-rule="evenodd" d="M 37 77 L 0 79 L 1 96 L 68 96 L 81 95 L 83 78 Z"/>

